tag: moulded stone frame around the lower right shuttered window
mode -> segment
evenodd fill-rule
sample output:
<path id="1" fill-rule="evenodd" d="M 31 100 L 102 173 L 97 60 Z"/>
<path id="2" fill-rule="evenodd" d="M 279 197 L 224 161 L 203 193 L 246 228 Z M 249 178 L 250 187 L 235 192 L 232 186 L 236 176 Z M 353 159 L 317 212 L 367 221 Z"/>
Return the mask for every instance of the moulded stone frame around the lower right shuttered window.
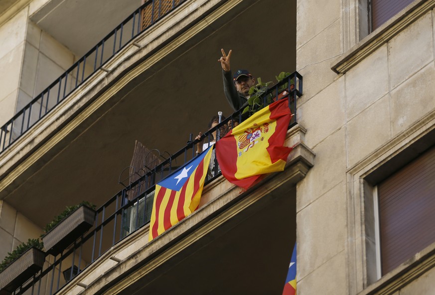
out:
<path id="1" fill-rule="evenodd" d="M 381 276 L 379 201 L 377 184 L 435 145 L 435 112 L 416 122 L 373 154 L 347 171 L 348 241 L 346 246 L 350 294 L 398 291 L 424 270 L 435 266 L 435 241 L 416 253 L 412 263 L 404 262 Z M 433 256 L 429 263 L 428 255 Z M 425 261 L 425 263 L 422 263 Z M 432 262 L 433 261 L 433 262 Z M 401 274 L 406 280 L 398 280 Z M 392 287 L 394 286 L 394 287 Z"/>

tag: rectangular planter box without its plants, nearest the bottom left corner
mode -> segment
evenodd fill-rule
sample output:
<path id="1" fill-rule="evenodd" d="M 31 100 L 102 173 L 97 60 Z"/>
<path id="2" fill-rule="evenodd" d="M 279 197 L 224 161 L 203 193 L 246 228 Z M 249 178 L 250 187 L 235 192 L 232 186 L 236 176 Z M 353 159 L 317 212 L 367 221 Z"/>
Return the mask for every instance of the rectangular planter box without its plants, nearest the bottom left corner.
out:
<path id="1" fill-rule="evenodd" d="M 28 249 L 0 273 L 0 295 L 10 294 L 42 269 L 45 253 Z"/>

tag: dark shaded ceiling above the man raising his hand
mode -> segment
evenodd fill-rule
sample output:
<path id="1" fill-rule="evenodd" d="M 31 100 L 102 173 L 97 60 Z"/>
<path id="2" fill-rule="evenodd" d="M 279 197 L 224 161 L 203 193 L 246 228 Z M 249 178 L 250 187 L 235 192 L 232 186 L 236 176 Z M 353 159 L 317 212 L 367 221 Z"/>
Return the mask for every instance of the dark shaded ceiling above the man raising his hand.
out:
<path id="1" fill-rule="evenodd" d="M 206 131 L 218 111 L 232 112 L 222 89 L 220 48 L 233 49 L 233 69 L 248 68 L 263 81 L 293 71 L 295 2 L 241 1 L 114 94 L 114 106 L 84 121 L 75 138 L 54 147 L 56 154 L 4 200 L 41 227 L 67 205 L 102 205 L 122 188 L 119 176 L 130 165 L 135 140 L 173 154 L 190 133 Z"/>

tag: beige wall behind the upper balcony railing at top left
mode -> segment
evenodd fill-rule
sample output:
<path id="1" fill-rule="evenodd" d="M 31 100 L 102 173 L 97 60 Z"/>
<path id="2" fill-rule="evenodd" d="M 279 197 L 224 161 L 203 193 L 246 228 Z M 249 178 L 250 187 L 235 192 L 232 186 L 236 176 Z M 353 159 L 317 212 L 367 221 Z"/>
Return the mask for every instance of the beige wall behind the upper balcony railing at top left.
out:
<path id="1" fill-rule="evenodd" d="M 30 21 L 46 2 L 33 0 L 22 7 L 17 3 L 9 8 L 17 12 L 0 25 L 0 125 L 77 60 L 68 48 Z"/>

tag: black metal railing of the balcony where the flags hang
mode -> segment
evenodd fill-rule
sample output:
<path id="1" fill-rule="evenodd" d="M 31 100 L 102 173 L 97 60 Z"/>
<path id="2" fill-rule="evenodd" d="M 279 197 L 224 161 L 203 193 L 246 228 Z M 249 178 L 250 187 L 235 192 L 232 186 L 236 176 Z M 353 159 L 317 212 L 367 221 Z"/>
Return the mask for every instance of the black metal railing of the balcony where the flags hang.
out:
<path id="1" fill-rule="evenodd" d="M 294 88 L 290 86 L 292 84 Z M 291 113 L 294 114 L 290 121 L 290 128 L 296 124 L 296 98 L 301 95 L 302 76 L 294 72 L 270 88 L 265 97 L 272 97 L 272 100 L 288 99 Z M 264 100 L 264 103 L 267 104 L 267 101 Z M 242 109 L 240 109 L 205 132 L 202 139 L 210 142 L 213 139 L 212 133 L 216 131 L 216 140 L 219 140 L 229 130 L 229 120 L 242 122 L 246 118 L 247 116 L 242 114 Z M 138 180 L 123 188 L 97 210 L 95 224 L 86 235 L 77 239 L 60 255 L 53 257 L 50 265 L 46 264 L 42 271 L 18 288 L 14 294 L 55 294 L 115 244 L 148 224 L 155 184 L 196 157 L 197 143 L 197 140 L 192 140 L 192 134 L 190 134 L 185 147 L 169 155 L 153 169 L 141 169 L 142 175 Z M 205 185 L 220 175 L 219 164 L 213 151 Z M 132 192 L 135 195 L 129 195 Z M 117 261 L 116 257 L 111 259 Z"/>

